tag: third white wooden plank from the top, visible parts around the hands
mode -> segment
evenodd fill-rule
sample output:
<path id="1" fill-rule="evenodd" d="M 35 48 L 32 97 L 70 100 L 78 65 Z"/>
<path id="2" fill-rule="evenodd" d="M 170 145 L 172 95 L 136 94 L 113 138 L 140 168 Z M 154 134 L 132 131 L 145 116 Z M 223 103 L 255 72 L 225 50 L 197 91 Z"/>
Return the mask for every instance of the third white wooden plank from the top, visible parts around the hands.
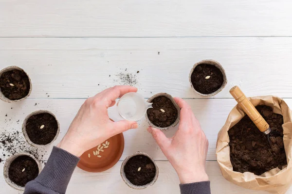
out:
<path id="1" fill-rule="evenodd" d="M 209 140 L 207 160 L 216 161 L 217 134 L 224 125 L 229 112 L 236 105 L 236 101 L 234 99 L 187 99 L 186 101 L 192 107 L 193 113 L 200 121 L 201 128 Z M 292 106 L 292 99 L 285 99 L 285 101 Z M 84 99 L 27 99 L 14 104 L 0 102 L 0 132 L 16 130 L 21 132 L 21 125 L 26 115 L 36 110 L 51 111 L 56 115 L 60 123 L 60 135 L 52 146 L 38 149 L 39 160 L 45 161 L 48 159 L 52 147 L 65 135 L 83 102 Z M 36 103 L 37 105 L 35 106 Z M 7 116 L 5 116 L 6 114 Z M 115 121 L 122 119 L 117 113 L 116 106 L 109 109 L 109 115 Z M 18 120 L 19 122 L 17 122 Z M 139 121 L 139 129 L 131 129 L 124 132 L 125 149 L 120 160 L 124 160 L 127 156 L 137 151 L 148 153 L 156 161 L 167 160 L 151 134 L 146 131 L 147 126 L 146 119 L 142 118 Z M 177 127 L 164 131 L 165 135 L 172 137 L 178 129 Z M 24 140 L 23 135 L 20 135 L 20 139 Z M 3 149 L 0 150 L 0 153 L 0 158 L 6 160 L 9 153 Z M 6 156 L 3 157 L 3 154 Z"/>

